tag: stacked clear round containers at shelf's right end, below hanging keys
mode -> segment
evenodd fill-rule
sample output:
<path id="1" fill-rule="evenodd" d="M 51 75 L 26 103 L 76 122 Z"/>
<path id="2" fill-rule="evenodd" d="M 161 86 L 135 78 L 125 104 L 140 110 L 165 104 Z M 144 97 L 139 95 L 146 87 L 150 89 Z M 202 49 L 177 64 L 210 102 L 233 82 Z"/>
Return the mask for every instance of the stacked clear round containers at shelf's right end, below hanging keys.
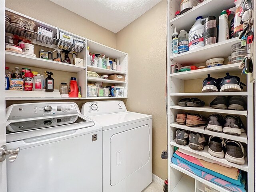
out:
<path id="1" fill-rule="evenodd" d="M 247 54 L 247 46 L 241 48 L 240 43 L 231 46 L 231 63 L 240 63 Z"/>

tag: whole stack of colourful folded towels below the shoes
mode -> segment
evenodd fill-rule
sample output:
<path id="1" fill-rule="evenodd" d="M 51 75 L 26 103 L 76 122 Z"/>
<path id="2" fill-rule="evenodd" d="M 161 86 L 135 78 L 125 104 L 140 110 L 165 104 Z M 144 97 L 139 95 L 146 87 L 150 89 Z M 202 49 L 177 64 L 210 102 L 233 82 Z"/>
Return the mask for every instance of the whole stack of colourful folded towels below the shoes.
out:
<path id="1" fill-rule="evenodd" d="M 245 179 L 242 178 L 242 172 L 238 168 L 222 166 L 217 162 L 211 162 L 208 158 L 202 156 L 196 158 L 188 154 L 190 152 L 186 150 L 176 150 L 172 163 L 231 191 L 246 192 Z"/>

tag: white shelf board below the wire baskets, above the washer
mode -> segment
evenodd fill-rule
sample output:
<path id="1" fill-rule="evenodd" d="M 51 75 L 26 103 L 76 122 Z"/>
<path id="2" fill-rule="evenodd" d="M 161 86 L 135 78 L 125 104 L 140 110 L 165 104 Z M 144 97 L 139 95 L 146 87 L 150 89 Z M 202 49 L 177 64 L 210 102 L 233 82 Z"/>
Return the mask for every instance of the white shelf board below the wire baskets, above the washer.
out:
<path id="1" fill-rule="evenodd" d="M 72 64 L 66 64 L 62 62 L 56 62 L 52 60 L 41 59 L 37 57 L 31 57 L 22 54 L 16 54 L 11 52 L 5 52 L 5 61 L 8 63 L 21 64 L 25 66 L 54 69 L 67 72 L 79 72 L 85 69 L 85 67 L 75 66 Z"/>

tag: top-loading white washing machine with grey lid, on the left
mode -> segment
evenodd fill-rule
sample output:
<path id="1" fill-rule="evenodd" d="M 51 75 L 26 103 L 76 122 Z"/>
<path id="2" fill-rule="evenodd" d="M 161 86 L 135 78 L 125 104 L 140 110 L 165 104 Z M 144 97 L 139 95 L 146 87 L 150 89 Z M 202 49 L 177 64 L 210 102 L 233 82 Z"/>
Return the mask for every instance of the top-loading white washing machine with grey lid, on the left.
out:
<path id="1" fill-rule="evenodd" d="M 14 104 L 6 133 L 8 192 L 102 191 L 102 127 L 75 103 Z"/>

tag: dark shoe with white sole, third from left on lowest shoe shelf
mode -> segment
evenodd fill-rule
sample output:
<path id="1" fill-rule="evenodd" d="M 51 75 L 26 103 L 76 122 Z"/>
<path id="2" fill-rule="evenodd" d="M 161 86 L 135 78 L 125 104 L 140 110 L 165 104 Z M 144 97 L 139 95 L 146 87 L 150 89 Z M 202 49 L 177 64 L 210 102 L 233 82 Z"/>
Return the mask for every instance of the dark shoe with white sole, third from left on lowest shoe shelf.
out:
<path id="1" fill-rule="evenodd" d="M 208 153 L 212 156 L 224 158 L 224 139 L 216 136 L 210 136 L 208 144 Z"/>

